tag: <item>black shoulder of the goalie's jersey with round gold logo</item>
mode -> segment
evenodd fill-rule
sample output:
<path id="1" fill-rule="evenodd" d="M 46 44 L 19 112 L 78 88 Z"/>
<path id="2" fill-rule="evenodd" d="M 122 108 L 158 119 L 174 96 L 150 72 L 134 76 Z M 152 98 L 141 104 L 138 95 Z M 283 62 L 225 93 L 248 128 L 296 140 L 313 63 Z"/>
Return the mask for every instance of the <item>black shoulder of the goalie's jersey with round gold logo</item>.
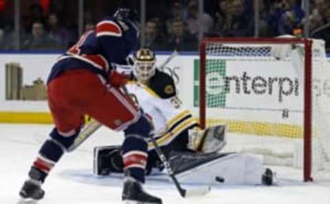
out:
<path id="1" fill-rule="evenodd" d="M 172 77 L 157 70 L 155 75 L 151 77 L 148 88 L 151 88 L 161 99 L 168 99 L 177 94 Z"/>

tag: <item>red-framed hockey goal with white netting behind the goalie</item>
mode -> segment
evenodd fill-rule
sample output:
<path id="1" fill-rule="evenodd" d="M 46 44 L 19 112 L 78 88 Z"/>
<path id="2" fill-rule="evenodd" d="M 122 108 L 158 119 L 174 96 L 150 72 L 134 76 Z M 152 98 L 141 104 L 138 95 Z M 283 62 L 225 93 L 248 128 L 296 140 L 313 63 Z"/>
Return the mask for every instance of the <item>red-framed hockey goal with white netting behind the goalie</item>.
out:
<path id="1" fill-rule="evenodd" d="M 316 46 L 318 46 L 318 47 L 316 47 Z M 236 91 L 236 94 L 237 94 L 237 92 L 239 92 L 240 94 L 248 92 L 248 90 L 238 90 L 238 88 L 241 88 L 242 86 L 243 86 L 243 88 L 246 88 L 248 86 L 249 82 L 252 83 L 251 81 L 248 81 L 248 79 L 251 79 L 251 77 L 248 76 L 249 75 L 248 70 L 245 70 L 245 74 L 243 73 L 243 75 L 239 75 L 239 77 L 225 77 L 225 75 L 228 75 L 228 73 L 226 73 L 226 72 L 232 71 L 228 64 L 239 63 L 239 69 L 241 70 L 241 69 L 245 68 L 245 64 L 249 64 L 249 63 L 250 64 L 252 63 L 252 65 L 249 65 L 250 67 L 252 67 L 252 66 L 258 67 L 258 64 L 253 64 L 254 61 L 265 63 L 264 64 L 265 68 L 268 68 L 268 65 L 267 65 L 268 62 L 276 64 L 276 63 L 281 63 L 281 61 L 284 61 L 283 63 L 288 63 L 287 62 L 288 57 L 286 57 L 285 60 L 276 60 L 276 58 L 274 58 L 274 55 L 272 55 L 272 49 L 278 49 L 281 52 L 285 52 L 285 51 L 289 50 L 289 47 L 292 47 L 292 48 L 300 47 L 300 60 L 298 60 L 300 62 L 298 62 L 298 65 L 296 65 L 296 74 L 300 75 L 300 76 L 298 78 L 296 78 L 296 81 L 291 80 L 289 78 L 281 78 L 281 77 L 274 77 L 274 78 L 266 77 L 264 79 L 261 79 L 262 77 L 260 77 L 260 75 L 255 72 L 252 73 L 252 75 L 259 75 L 259 78 L 256 77 L 256 78 L 254 78 L 255 81 L 254 81 L 254 79 L 252 79 L 252 81 L 255 82 L 254 83 L 254 85 L 256 86 L 255 90 L 257 90 L 257 88 L 258 88 L 257 86 L 259 86 L 259 94 L 261 92 L 260 95 L 268 94 L 268 96 L 270 96 L 272 93 L 274 93 L 272 91 L 272 89 L 274 88 L 273 85 L 274 85 L 274 81 L 276 81 L 275 79 L 278 79 L 278 81 L 282 81 L 281 82 L 282 85 L 285 84 L 287 81 L 289 81 L 288 84 L 291 83 L 290 86 L 292 86 L 294 90 L 290 89 L 290 91 L 285 92 L 286 96 L 289 95 L 289 93 L 294 92 L 295 93 L 294 97 L 298 98 L 298 96 L 297 96 L 297 95 L 299 95 L 298 88 L 301 89 L 300 91 L 302 92 L 302 94 L 300 94 L 300 103 L 301 103 L 300 110 L 297 110 L 299 108 L 296 108 L 296 110 L 292 110 L 292 107 L 283 108 L 282 110 L 286 110 L 286 112 L 283 111 L 281 113 L 283 120 L 281 120 L 281 118 L 276 119 L 278 121 L 276 121 L 275 126 L 274 126 L 275 123 L 271 122 L 271 124 L 273 124 L 273 126 L 263 127 L 261 129 L 273 129 L 274 130 L 278 127 L 281 127 L 281 128 L 293 127 L 294 130 L 289 129 L 290 132 L 292 131 L 291 132 L 292 135 L 290 135 L 290 132 L 288 130 L 285 130 L 284 131 L 285 133 L 283 133 L 283 135 L 284 135 L 284 137 L 288 137 L 288 138 L 300 137 L 300 140 L 303 140 L 303 142 L 301 142 L 301 144 L 300 144 L 301 149 L 302 149 L 301 151 L 303 151 L 303 153 L 300 153 L 300 157 L 303 157 L 303 161 L 301 161 L 301 164 L 300 164 L 301 167 L 303 168 L 303 180 L 304 181 L 313 181 L 312 171 L 314 171 L 313 170 L 314 164 L 312 162 L 312 158 L 314 158 L 314 157 L 312 155 L 312 151 L 316 151 L 317 148 L 325 148 L 325 146 L 327 146 L 327 148 L 328 148 L 326 150 L 327 152 L 322 150 L 322 154 L 326 155 L 327 160 L 328 160 L 327 162 L 329 162 L 329 146 L 330 146 L 329 136 L 325 140 L 322 140 L 323 143 L 327 142 L 327 144 L 322 144 L 322 147 L 315 147 L 315 148 L 313 145 L 316 146 L 316 144 L 313 143 L 313 137 L 312 137 L 313 133 L 314 133 L 313 127 L 315 126 L 314 123 L 318 123 L 317 121 L 313 121 L 314 120 L 313 114 L 315 114 L 314 116 L 316 116 L 317 114 L 325 115 L 325 113 L 322 112 L 322 111 L 324 111 L 324 110 L 322 110 L 322 108 L 315 107 L 320 102 L 315 103 L 313 101 L 314 98 L 313 98 L 313 87 L 312 87 L 312 86 L 314 86 L 314 84 L 312 84 L 313 83 L 313 81 L 312 81 L 313 66 L 323 66 L 323 68 L 325 68 L 326 57 L 325 57 L 324 42 L 320 43 L 318 41 L 318 43 L 316 43 L 316 40 L 308 39 L 308 38 L 204 38 L 203 40 L 201 40 L 201 44 L 199 45 L 199 49 L 200 49 L 199 50 L 199 55 L 200 55 L 199 56 L 200 57 L 200 64 L 199 64 L 199 67 L 200 67 L 199 68 L 199 96 L 200 96 L 199 97 L 199 122 L 200 122 L 201 127 L 203 127 L 203 128 L 205 128 L 209 125 L 214 125 L 212 123 L 227 123 L 227 125 L 229 123 L 229 125 L 228 125 L 229 131 L 242 131 L 241 129 L 235 130 L 234 125 L 237 123 L 240 123 L 240 124 L 244 123 L 242 121 L 245 120 L 245 118 L 243 118 L 243 120 L 242 120 L 242 118 L 239 118 L 239 119 L 235 118 L 236 122 L 232 122 L 235 119 L 229 121 L 229 120 L 226 120 L 226 118 L 223 118 L 223 117 L 232 116 L 230 113 L 229 113 L 229 115 L 223 114 L 226 112 L 226 110 L 230 110 L 230 109 L 240 110 L 240 107 L 237 104 L 236 104 L 236 106 L 227 105 L 229 99 L 226 99 L 225 94 L 228 94 L 228 93 L 232 94 L 232 92 L 234 92 L 234 91 Z M 283 48 L 283 50 L 281 50 L 281 48 Z M 324 53 L 324 55 L 322 55 L 323 53 Z M 318 61 L 318 64 L 314 63 L 314 56 L 316 56 L 317 59 L 315 59 L 315 60 Z M 240 60 L 237 60 L 237 59 L 240 59 Z M 239 62 L 236 62 L 236 61 L 239 61 Z M 320 62 L 322 62 L 322 63 L 320 63 Z M 289 63 L 294 64 L 294 62 L 289 62 Z M 297 66 L 299 66 L 299 65 L 302 67 L 298 68 L 300 70 L 297 71 Z M 274 66 L 271 66 L 271 68 L 272 67 L 274 67 Z M 227 71 L 223 71 L 224 69 L 227 69 Z M 212 73 L 212 70 L 213 70 L 213 72 L 214 71 L 218 72 L 218 75 L 213 75 L 213 78 L 215 79 L 215 81 L 213 81 L 213 82 L 212 82 L 212 75 L 209 76 L 209 74 Z M 283 71 L 283 69 L 281 69 L 281 71 Z M 232 75 L 234 75 L 233 73 L 238 73 L 238 72 L 239 71 L 232 71 L 231 73 L 232 73 Z M 290 72 L 292 72 L 292 71 L 290 71 Z M 272 71 L 270 71 L 270 73 L 272 73 Z M 225 77 L 224 79 L 222 78 L 223 80 L 225 80 L 225 82 L 224 82 L 225 84 L 221 84 L 221 80 L 219 81 L 219 78 L 217 80 L 217 76 L 219 77 L 220 75 L 222 77 Z M 261 75 L 263 75 L 263 74 L 261 74 Z M 274 75 L 276 75 L 276 73 Z M 280 75 L 283 75 L 283 73 L 281 73 Z M 245 79 L 243 79 L 244 77 L 245 77 Z M 268 79 L 268 81 L 266 79 Z M 242 86 L 238 86 L 237 83 L 240 83 L 239 80 L 245 80 L 242 82 Z M 236 89 L 234 91 L 230 90 L 231 89 L 230 83 L 232 81 L 234 81 L 234 83 L 236 83 Z M 269 84 L 267 84 L 268 82 L 269 82 Z M 292 84 L 292 82 L 294 84 Z M 210 83 L 210 84 L 208 84 L 208 83 Z M 300 87 L 300 83 L 303 83 L 303 86 Z M 269 87 L 266 89 L 267 85 Z M 272 86 L 272 87 L 270 87 L 270 86 Z M 280 84 L 278 86 L 280 86 Z M 224 87 L 224 89 L 223 89 L 223 87 Z M 214 90 L 217 90 L 217 88 L 219 90 L 214 92 Z M 279 88 L 281 88 L 281 87 L 279 87 Z M 210 94 L 210 93 L 208 93 L 207 89 L 209 89 L 211 91 L 213 90 L 213 92 Z M 283 89 L 285 89 L 285 88 L 283 88 Z M 222 92 L 225 92 L 225 94 L 221 95 L 221 90 L 222 90 Z M 251 92 L 252 92 L 252 90 L 251 90 Z M 279 94 L 281 94 L 281 92 L 279 92 Z M 284 95 L 281 95 L 279 97 L 278 101 L 276 101 L 276 102 L 282 103 L 283 101 L 285 101 L 283 96 Z M 227 98 L 229 98 L 229 97 L 227 96 Z M 253 97 L 251 97 L 251 99 L 252 98 Z M 236 103 L 249 103 L 248 102 L 249 99 L 245 96 L 244 98 L 241 99 L 241 101 L 236 102 Z M 290 98 L 290 99 L 292 99 L 292 98 Z M 232 100 L 234 100 L 234 99 L 232 99 Z M 256 100 L 258 100 L 258 96 L 254 97 L 254 99 L 252 101 L 256 101 Z M 224 102 L 224 101 L 226 101 L 226 102 Z M 231 102 L 231 103 L 235 103 L 235 102 Z M 263 103 L 262 100 L 261 100 L 261 103 Z M 244 106 L 244 105 L 242 105 L 242 106 Z M 264 105 L 261 105 L 261 106 L 264 106 Z M 221 109 L 221 110 L 223 110 L 223 112 L 217 113 L 216 109 Z M 259 107 L 248 107 L 248 108 L 245 108 L 245 110 L 243 110 L 241 112 L 248 112 L 248 110 L 252 110 L 252 112 L 253 111 L 258 112 L 258 110 L 260 110 L 259 112 L 265 112 L 267 114 L 267 108 L 265 108 L 265 107 L 260 108 L 260 109 L 259 109 Z M 269 108 L 268 112 L 272 112 L 272 110 L 273 110 L 273 112 L 276 112 L 276 110 L 278 112 L 278 110 L 281 110 L 281 108 L 278 108 L 278 105 L 277 105 L 276 107 Z M 318 112 L 316 112 L 316 111 L 318 111 Z M 263 118 L 265 118 L 265 113 L 263 115 Z M 285 118 L 288 117 L 287 115 L 289 113 L 290 114 L 292 114 L 292 113 L 300 114 L 301 120 L 300 120 L 300 124 L 298 126 L 294 125 L 294 124 L 289 124 L 289 126 L 287 124 L 284 124 L 284 125 L 281 124 L 281 121 L 285 121 Z M 214 116 L 214 114 L 215 114 L 215 116 Z M 222 114 L 223 114 L 223 116 L 222 116 Z M 246 115 L 245 117 L 250 119 L 250 115 Z M 270 115 L 269 117 L 272 117 L 272 116 Z M 327 122 L 325 122 L 325 117 L 326 116 L 322 116 L 322 123 L 327 123 Z M 254 118 L 254 117 L 252 117 L 252 118 Z M 268 116 L 266 118 L 268 118 Z M 270 118 L 268 118 L 268 121 L 269 121 L 269 119 Z M 239 120 L 239 122 L 237 122 L 237 120 Z M 247 122 L 247 123 L 249 123 L 248 126 L 252 128 L 252 127 L 254 127 L 254 125 L 256 123 L 260 125 L 260 124 L 263 124 L 263 122 L 260 123 L 260 121 L 256 121 L 254 118 L 254 119 L 252 119 L 251 123 L 249 123 L 249 122 Z M 252 123 L 254 125 L 252 125 Z M 299 131 L 299 129 L 301 129 L 301 131 Z M 297 133 L 297 130 L 298 130 L 298 133 Z M 256 133 L 258 130 L 256 130 L 256 131 L 249 130 L 249 131 L 252 133 Z M 298 136 L 299 132 L 300 132 L 300 136 Z M 321 138 L 326 137 L 325 135 L 322 135 L 322 133 L 324 133 L 324 132 L 325 132 L 325 130 L 318 131 L 317 134 Z M 243 133 L 246 133 L 246 131 L 243 131 Z M 267 132 L 267 133 L 263 133 L 263 134 L 276 136 L 277 134 L 280 134 L 280 133 L 279 133 L 279 131 L 274 131 L 272 133 Z M 230 144 L 228 144 L 228 145 L 230 145 Z M 263 144 L 261 144 L 261 145 L 263 145 Z M 318 145 L 318 146 L 320 146 L 320 145 Z M 319 152 L 319 150 L 317 150 L 317 151 Z M 320 157 L 320 156 L 317 156 L 317 157 Z M 322 155 L 322 157 L 323 157 L 323 155 Z"/>

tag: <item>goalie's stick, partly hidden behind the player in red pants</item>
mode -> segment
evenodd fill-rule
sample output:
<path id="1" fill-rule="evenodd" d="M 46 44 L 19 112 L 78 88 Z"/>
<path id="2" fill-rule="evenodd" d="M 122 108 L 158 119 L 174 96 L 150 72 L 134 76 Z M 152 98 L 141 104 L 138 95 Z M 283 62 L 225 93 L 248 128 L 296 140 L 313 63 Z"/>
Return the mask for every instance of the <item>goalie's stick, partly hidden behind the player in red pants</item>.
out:
<path id="1" fill-rule="evenodd" d="M 173 53 L 171 53 L 171 55 L 168 56 L 168 58 L 159 66 L 159 69 L 161 71 L 163 71 L 166 64 L 168 64 L 168 62 L 170 62 L 170 60 L 175 58 L 175 56 L 177 54 L 178 54 L 177 51 L 173 51 Z M 127 90 L 125 87 L 122 87 L 122 89 L 124 90 L 124 92 L 127 93 Z M 79 133 L 76 140 L 74 140 L 74 144 L 72 144 L 72 146 L 70 146 L 69 149 L 67 149 L 67 152 L 72 152 L 75 149 L 77 149 L 77 147 L 80 146 L 80 144 L 82 144 L 85 140 L 87 140 L 87 138 L 89 138 L 89 136 L 91 136 L 101 126 L 102 126 L 102 124 L 100 124 L 94 118 L 91 118 L 91 121 L 82 129 L 82 131 Z"/>

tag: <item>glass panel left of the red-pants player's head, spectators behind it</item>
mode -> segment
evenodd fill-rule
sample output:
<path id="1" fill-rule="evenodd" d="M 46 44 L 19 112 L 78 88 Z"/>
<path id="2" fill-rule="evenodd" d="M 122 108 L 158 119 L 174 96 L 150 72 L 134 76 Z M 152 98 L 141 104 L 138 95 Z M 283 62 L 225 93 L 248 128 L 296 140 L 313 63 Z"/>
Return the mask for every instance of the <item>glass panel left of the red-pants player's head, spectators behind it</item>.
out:
<path id="1" fill-rule="evenodd" d="M 78 0 L 21 1 L 21 50 L 61 51 L 74 44 L 77 8 Z"/>

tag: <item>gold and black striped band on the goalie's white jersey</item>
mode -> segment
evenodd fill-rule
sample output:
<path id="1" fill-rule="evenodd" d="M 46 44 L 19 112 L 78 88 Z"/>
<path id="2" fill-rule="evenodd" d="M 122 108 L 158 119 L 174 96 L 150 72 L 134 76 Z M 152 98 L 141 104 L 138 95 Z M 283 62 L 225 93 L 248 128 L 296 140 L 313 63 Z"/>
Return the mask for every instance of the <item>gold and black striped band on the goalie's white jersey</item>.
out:
<path id="1" fill-rule="evenodd" d="M 186 118 L 186 119 L 184 119 Z M 184 120 L 183 120 L 184 119 Z M 192 118 L 188 110 L 181 112 L 173 120 L 168 123 L 168 131 L 156 140 L 159 146 L 164 146 L 174 140 L 182 131 L 185 131 L 188 127 L 192 125 L 197 125 L 196 118 Z M 152 142 L 148 142 L 148 149 L 153 149 L 154 146 Z"/>

